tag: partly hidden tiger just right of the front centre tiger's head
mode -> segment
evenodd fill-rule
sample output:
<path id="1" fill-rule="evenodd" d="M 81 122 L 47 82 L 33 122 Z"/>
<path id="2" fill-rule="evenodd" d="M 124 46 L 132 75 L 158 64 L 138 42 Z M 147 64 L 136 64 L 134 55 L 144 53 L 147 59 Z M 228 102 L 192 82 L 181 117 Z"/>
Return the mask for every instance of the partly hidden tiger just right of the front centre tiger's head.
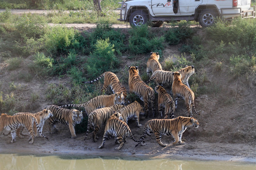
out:
<path id="1" fill-rule="evenodd" d="M 139 104 L 139 102 L 132 102 L 127 106 L 117 110 L 117 112 L 121 113 L 124 122 L 128 123 L 128 120 L 135 119 L 137 127 L 142 126 L 139 123 L 139 114 L 144 113 L 144 110 L 143 107 Z"/>

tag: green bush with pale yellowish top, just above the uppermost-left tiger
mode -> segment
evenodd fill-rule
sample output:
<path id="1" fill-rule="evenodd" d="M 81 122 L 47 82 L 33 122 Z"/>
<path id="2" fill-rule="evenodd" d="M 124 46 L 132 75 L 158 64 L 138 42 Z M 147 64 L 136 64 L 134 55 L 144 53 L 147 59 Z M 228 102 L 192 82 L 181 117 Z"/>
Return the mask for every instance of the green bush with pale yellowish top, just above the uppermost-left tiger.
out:
<path id="1" fill-rule="evenodd" d="M 98 40 L 94 46 L 95 50 L 90 54 L 85 66 L 90 78 L 95 78 L 119 65 L 118 58 L 114 54 L 114 45 L 110 43 L 109 38 Z"/>

